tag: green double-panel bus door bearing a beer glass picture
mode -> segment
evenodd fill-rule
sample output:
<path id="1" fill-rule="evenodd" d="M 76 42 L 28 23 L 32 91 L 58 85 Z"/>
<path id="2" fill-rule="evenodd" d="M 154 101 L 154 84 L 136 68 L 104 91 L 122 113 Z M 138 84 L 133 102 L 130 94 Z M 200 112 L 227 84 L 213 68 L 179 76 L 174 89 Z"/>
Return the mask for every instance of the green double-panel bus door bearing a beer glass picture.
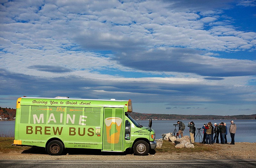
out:
<path id="1" fill-rule="evenodd" d="M 104 108 L 103 151 L 122 151 L 123 108 Z"/>

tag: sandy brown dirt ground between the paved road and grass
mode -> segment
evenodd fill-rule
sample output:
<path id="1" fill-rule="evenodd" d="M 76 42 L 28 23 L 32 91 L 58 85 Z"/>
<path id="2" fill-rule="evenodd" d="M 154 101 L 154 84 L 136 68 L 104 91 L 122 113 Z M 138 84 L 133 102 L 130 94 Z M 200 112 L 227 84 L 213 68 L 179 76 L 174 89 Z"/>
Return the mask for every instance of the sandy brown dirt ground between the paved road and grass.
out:
<path id="1" fill-rule="evenodd" d="M 239 142 L 235 145 L 213 144 L 211 152 L 173 152 L 157 153 L 152 151 L 148 156 L 134 156 L 132 153 L 75 151 L 69 150 L 66 155 L 49 156 L 44 148 L 20 150 L 18 152 L 2 153 L 0 160 L 188 160 L 188 159 L 256 159 L 256 143 Z"/>

